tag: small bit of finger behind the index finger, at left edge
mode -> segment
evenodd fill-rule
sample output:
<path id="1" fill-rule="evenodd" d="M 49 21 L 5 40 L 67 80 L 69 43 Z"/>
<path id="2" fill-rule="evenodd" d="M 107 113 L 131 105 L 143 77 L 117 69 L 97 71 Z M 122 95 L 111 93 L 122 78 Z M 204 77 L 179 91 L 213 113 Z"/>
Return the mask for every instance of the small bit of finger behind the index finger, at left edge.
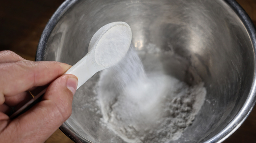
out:
<path id="1" fill-rule="evenodd" d="M 12 51 L 0 51 L 0 63 L 17 62 L 25 60 Z"/>

